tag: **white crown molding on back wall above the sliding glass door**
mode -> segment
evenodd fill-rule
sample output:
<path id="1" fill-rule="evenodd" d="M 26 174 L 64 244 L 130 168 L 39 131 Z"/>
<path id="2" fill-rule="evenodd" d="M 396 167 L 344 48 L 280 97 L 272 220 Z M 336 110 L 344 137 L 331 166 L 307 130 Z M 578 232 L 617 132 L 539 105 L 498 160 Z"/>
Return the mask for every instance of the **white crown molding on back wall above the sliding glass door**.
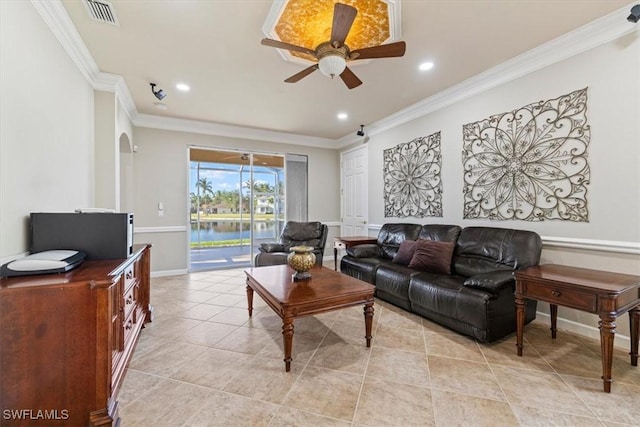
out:
<path id="1" fill-rule="evenodd" d="M 335 140 L 333 139 L 285 132 L 274 132 L 270 130 L 233 126 L 222 123 L 178 119 L 151 114 L 137 114 L 132 121 L 135 126 L 153 129 L 226 136 L 231 138 L 245 138 L 257 141 L 276 142 L 280 144 L 295 144 L 319 148 L 337 148 L 335 147 Z"/>

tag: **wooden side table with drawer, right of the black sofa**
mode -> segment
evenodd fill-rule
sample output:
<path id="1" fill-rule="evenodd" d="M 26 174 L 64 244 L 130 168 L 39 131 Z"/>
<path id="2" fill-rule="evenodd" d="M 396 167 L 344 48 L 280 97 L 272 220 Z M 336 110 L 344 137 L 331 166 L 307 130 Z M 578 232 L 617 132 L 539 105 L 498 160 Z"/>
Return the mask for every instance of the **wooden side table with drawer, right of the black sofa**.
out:
<path id="1" fill-rule="evenodd" d="M 548 302 L 551 311 L 551 338 L 556 338 L 558 305 L 600 316 L 602 381 L 611 392 L 611 365 L 616 319 L 629 312 L 631 365 L 638 366 L 638 326 L 640 325 L 640 276 L 568 267 L 540 265 L 516 271 L 516 322 L 518 356 L 522 356 L 525 300 Z"/>

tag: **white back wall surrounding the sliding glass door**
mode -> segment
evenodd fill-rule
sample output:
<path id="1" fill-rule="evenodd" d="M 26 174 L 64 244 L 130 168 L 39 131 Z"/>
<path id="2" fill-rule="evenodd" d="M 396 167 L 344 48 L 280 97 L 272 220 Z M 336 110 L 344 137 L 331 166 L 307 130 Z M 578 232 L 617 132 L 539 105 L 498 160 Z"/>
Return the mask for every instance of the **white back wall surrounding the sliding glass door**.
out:
<path id="1" fill-rule="evenodd" d="M 246 149 L 309 157 L 309 219 L 340 220 L 339 154 L 336 150 L 274 144 L 195 133 L 134 128 L 136 242 L 152 243 L 151 270 L 186 271 L 188 250 L 188 147 Z M 158 202 L 164 216 L 158 216 Z"/>

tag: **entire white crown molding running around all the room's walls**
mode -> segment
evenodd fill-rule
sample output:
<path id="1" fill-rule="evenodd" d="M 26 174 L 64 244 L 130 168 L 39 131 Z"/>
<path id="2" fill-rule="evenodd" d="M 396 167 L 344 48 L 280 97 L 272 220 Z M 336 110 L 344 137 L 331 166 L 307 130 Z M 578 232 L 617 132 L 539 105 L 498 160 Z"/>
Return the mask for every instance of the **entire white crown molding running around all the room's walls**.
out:
<path id="1" fill-rule="evenodd" d="M 396 4 L 395 0 L 387 1 L 389 7 Z M 114 92 L 135 126 L 332 149 L 341 149 L 361 142 L 360 138 L 354 137 L 351 133 L 334 140 L 216 122 L 139 114 L 124 79 L 119 75 L 103 73 L 98 69 L 61 1 L 31 0 L 31 3 L 91 86 L 95 90 Z M 399 1 L 397 3 L 399 4 Z M 369 124 L 367 134 L 372 136 L 395 128 L 626 34 L 639 31 L 640 26 L 627 25 L 626 17 L 631 6 L 633 3 Z M 399 7 L 393 19 L 400 20 Z"/>

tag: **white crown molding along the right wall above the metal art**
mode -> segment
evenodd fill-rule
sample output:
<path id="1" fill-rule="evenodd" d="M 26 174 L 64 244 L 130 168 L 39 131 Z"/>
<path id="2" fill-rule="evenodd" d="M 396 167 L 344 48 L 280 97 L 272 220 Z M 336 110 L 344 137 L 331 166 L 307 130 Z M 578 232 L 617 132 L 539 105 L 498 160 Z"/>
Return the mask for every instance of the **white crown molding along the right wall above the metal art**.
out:
<path id="1" fill-rule="evenodd" d="M 639 31 L 639 25 L 627 23 L 626 18 L 632 5 L 633 3 L 630 3 L 628 6 L 620 8 L 609 15 L 596 19 L 382 120 L 378 120 L 367 126 L 367 134 L 372 136 L 395 128 L 626 34 Z M 355 138 L 352 134 L 349 134 L 339 138 L 337 145 L 339 148 L 344 148 L 357 142 L 360 142 L 360 138 Z"/>

